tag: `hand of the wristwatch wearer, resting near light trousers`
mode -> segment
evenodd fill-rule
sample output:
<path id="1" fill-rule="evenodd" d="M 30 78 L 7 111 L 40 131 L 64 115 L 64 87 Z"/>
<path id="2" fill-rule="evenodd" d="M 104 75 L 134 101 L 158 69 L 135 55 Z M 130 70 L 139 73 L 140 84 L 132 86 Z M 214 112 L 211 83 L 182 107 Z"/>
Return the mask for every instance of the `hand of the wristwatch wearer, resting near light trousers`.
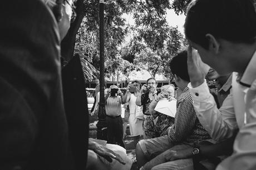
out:
<path id="1" fill-rule="evenodd" d="M 165 159 L 166 161 L 175 161 L 177 159 L 191 158 L 193 156 L 192 151 L 193 151 L 193 147 L 191 146 L 188 146 L 183 149 L 171 148 L 169 149 L 169 152 L 165 154 Z"/>

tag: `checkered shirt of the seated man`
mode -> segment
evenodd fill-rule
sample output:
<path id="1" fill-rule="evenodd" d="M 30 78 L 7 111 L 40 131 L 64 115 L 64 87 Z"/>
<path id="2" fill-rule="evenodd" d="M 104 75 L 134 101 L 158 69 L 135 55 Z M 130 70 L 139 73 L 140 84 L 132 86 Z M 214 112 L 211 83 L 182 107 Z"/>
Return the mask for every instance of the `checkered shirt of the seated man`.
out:
<path id="1" fill-rule="evenodd" d="M 186 87 L 177 99 L 175 121 L 168 132 L 171 142 L 198 143 L 210 139 L 210 135 L 196 117 L 192 102 L 189 88 Z"/>

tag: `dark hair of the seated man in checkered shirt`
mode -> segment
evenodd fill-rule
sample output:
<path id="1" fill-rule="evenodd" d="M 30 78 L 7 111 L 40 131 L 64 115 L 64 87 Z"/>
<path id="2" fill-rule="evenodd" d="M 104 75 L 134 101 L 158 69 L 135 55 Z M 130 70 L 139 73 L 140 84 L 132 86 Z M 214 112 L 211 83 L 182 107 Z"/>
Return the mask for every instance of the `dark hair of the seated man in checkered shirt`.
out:
<path id="1" fill-rule="evenodd" d="M 190 82 L 189 72 L 188 72 L 188 53 L 183 51 L 178 53 L 170 62 L 170 69 L 173 74 L 176 74 L 181 79 Z"/>

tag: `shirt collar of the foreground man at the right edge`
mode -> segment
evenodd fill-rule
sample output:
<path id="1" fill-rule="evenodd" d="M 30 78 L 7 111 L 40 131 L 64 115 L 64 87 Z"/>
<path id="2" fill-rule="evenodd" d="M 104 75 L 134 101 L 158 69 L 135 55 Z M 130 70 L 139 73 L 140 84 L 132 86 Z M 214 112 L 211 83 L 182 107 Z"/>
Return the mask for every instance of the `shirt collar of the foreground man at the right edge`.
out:
<path id="1" fill-rule="evenodd" d="M 240 84 L 242 84 L 245 87 L 250 87 L 250 85 L 253 83 L 253 81 L 256 79 L 256 51 L 253 54 L 252 59 L 250 59 L 250 62 L 245 69 L 245 72 L 243 73 L 242 78 L 240 79 Z"/>

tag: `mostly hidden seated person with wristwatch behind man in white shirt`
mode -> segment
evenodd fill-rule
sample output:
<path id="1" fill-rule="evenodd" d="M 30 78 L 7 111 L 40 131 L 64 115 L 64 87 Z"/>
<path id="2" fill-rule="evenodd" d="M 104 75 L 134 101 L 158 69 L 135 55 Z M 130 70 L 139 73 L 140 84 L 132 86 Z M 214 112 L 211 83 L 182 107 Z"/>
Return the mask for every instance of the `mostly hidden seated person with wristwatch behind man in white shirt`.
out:
<path id="1" fill-rule="evenodd" d="M 207 77 L 209 80 L 216 80 L 219 101 L 216 103 L 223 104 L 231 90 L 232 75 L 220 76 L 214 69 L 211 69 Z M 220 106 L 221 106 L 220 105 Z M 166 159 L 174 161 L 176 159 L 193 158 L 194 169 L 215 169 L 216 166 L 233 152 L 233 142 L 235 135 L 218 143 L 207 141 L 200 142 L 198 146 L 191 146 L 184 149 L 171 148 L 171 152 L 166 155 Z"/>

